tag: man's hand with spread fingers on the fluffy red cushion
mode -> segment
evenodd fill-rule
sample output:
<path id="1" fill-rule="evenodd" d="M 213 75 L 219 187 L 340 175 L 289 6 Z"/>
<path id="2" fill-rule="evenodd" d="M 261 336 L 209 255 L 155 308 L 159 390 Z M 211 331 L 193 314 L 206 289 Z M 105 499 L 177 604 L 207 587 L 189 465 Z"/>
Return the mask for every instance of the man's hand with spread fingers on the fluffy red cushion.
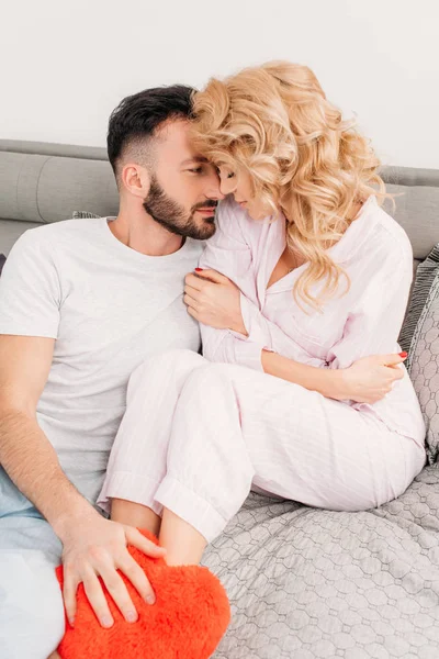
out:
<path id="1" fill-rule="evenodd" d="M 136 608 L 117 570 L 130 579 L 145 602 L 154 604 L 153 588 L 126 546 L 133 545 L 154 558 L 162 557 L 166 550 L 145 538 L 136 528 L 105 520 L 93 511 L 78 524 L 66 522 L 59 537 L 64 545 L 63 595 L 71 626 L 76 615 L 76 593 L 81 582 L 102 627 L 113 625 L 114 621 L 98 577 L 102 578 L 124 618 L 130 623 L 137 621 Z"/>

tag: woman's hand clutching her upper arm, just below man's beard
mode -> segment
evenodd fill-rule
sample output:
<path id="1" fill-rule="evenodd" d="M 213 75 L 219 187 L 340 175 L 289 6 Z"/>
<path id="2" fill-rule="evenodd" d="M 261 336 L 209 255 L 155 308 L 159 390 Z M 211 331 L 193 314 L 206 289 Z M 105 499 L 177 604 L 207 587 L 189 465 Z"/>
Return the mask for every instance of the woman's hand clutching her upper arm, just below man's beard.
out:
<path id="1" fill-rule="evenodd" d="M 216 270 L 196 269 L 196 275 L 187 275 L 183 299 L 188 312 L 200 323 L 248 335 L 240 311 L 240 291 Z"/>

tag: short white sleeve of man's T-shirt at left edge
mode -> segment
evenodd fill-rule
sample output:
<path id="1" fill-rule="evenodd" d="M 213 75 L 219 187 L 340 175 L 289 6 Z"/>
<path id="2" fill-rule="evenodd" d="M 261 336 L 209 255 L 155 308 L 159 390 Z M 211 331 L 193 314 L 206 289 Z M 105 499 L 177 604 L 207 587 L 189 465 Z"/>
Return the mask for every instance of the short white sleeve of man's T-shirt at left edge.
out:
<path id="1" fill-rule="evenodd" d="M 0 334 L 57 338 L 60 301 L 53 249 L 38 228 L 26 231 L 0 277 Z"/>

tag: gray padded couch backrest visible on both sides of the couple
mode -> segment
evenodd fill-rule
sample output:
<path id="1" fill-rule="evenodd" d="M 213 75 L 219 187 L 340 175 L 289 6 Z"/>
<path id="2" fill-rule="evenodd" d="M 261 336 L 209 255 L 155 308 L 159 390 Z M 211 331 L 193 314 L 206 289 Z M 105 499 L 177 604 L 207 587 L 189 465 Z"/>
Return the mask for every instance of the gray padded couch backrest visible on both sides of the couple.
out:
<path id="1" fill-rule="evenodd" d="M 439 243 L 439 169 L 385 167 L 396 209 L 416 260 Z M 0 139 L 0 219 L 57 222 L 74 211 L 115 215 L 119 198 L 106 152 L 100 147 Z"/>

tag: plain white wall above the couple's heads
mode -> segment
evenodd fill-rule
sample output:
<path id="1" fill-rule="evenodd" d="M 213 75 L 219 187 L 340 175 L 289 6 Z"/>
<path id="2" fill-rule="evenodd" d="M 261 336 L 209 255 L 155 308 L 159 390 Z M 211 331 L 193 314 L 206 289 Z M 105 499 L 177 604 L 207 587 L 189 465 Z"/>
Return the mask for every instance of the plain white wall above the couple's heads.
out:
<path id="1" fill-rule="evenodd" d="M 104 146 L 121 98 L 311 66 L 383 161 L 439 168 L 437 0 L 1 0 L 0 137 Z"/>

